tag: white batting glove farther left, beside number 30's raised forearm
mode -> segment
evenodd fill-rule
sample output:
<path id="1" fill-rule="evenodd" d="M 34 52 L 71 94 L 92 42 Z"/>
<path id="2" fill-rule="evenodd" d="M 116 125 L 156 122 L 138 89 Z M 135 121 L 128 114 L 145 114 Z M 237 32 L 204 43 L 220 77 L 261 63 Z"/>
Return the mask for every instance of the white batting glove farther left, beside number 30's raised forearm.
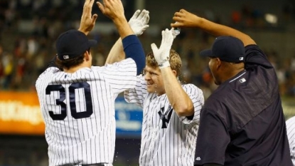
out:
<path id="1" fill-rule="evenodd" d="M 149 11 L 145 9 L 135 11 L 128 24 L 136 36 L 140 36 L 149 27 Z"/>

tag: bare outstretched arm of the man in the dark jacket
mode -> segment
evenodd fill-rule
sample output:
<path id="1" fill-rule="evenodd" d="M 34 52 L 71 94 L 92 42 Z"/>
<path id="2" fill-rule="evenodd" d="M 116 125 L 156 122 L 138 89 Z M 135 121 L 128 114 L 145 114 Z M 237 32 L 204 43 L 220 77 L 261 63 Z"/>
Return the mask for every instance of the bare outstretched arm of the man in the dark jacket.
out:
<path id="1" fill-rule="evenodd" d="M 181 9 L 176 12 L 173 16 L 173 20 L 175 23 L 171 24 L 171 27 L 179 27 L 179 28 L 200 28 L 207 33 L 212 34 L 213 36 L 234 36 L 239 38 L 244 46 L 250 44 L 256 44 L 250 36 L 241 31 L 237 31 L 234 28 L 230 28 L 229 26 L 224 26 L 221 24 L 216 24 L 207 19 L 196 16 L 195 14 L 191 14 L 185 9 Z"/>

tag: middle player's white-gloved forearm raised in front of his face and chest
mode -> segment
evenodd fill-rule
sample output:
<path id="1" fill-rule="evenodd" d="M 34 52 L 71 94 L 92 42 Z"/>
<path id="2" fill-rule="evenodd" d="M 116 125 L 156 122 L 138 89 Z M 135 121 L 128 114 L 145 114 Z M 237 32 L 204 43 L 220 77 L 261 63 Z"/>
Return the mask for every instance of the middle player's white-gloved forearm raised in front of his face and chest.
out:
<path id="1" fill-rule="evenodd" d="M 191 116 L 194 113 L 193 102 L 176 78 L 176 71 L 172 71 L 170 68 L 169 57 L 173 38 L 173 29 L 170 31 L 166 29 L 162 31 L 160 48 L 152 43 L 151 49 L 161 69 L 165 92 L 173 109 L 178 116 Z"/>

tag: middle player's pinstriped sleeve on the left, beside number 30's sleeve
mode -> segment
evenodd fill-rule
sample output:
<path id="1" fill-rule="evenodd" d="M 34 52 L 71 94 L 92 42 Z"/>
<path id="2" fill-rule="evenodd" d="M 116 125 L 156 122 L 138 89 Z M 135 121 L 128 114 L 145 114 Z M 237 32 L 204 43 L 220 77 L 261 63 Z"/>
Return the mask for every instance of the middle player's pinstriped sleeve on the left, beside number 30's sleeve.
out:
<path id="1" fill-rule="evenodd" d="M 143 108 L 146 94 L 146 81 L 144 80 L 144 76 L 139 75 L 136 78 L 135 88 L 124 91 L 124 98 L 127 103 L 134 103 Z"/>

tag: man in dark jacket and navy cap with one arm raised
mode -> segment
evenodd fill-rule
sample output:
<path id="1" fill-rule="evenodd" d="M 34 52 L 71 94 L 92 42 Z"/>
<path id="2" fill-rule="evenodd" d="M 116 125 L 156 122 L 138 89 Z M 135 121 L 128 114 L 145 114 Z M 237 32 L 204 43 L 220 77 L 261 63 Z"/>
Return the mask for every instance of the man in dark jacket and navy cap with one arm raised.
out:
<path id="1" fill-rule="evenodd" d="M 255 41 L 184 9 L 173 21 L 216 37 L 200 52 L 219 86 L 200 111 L 194 165 L 291 166 L 277 75 Z"/>

